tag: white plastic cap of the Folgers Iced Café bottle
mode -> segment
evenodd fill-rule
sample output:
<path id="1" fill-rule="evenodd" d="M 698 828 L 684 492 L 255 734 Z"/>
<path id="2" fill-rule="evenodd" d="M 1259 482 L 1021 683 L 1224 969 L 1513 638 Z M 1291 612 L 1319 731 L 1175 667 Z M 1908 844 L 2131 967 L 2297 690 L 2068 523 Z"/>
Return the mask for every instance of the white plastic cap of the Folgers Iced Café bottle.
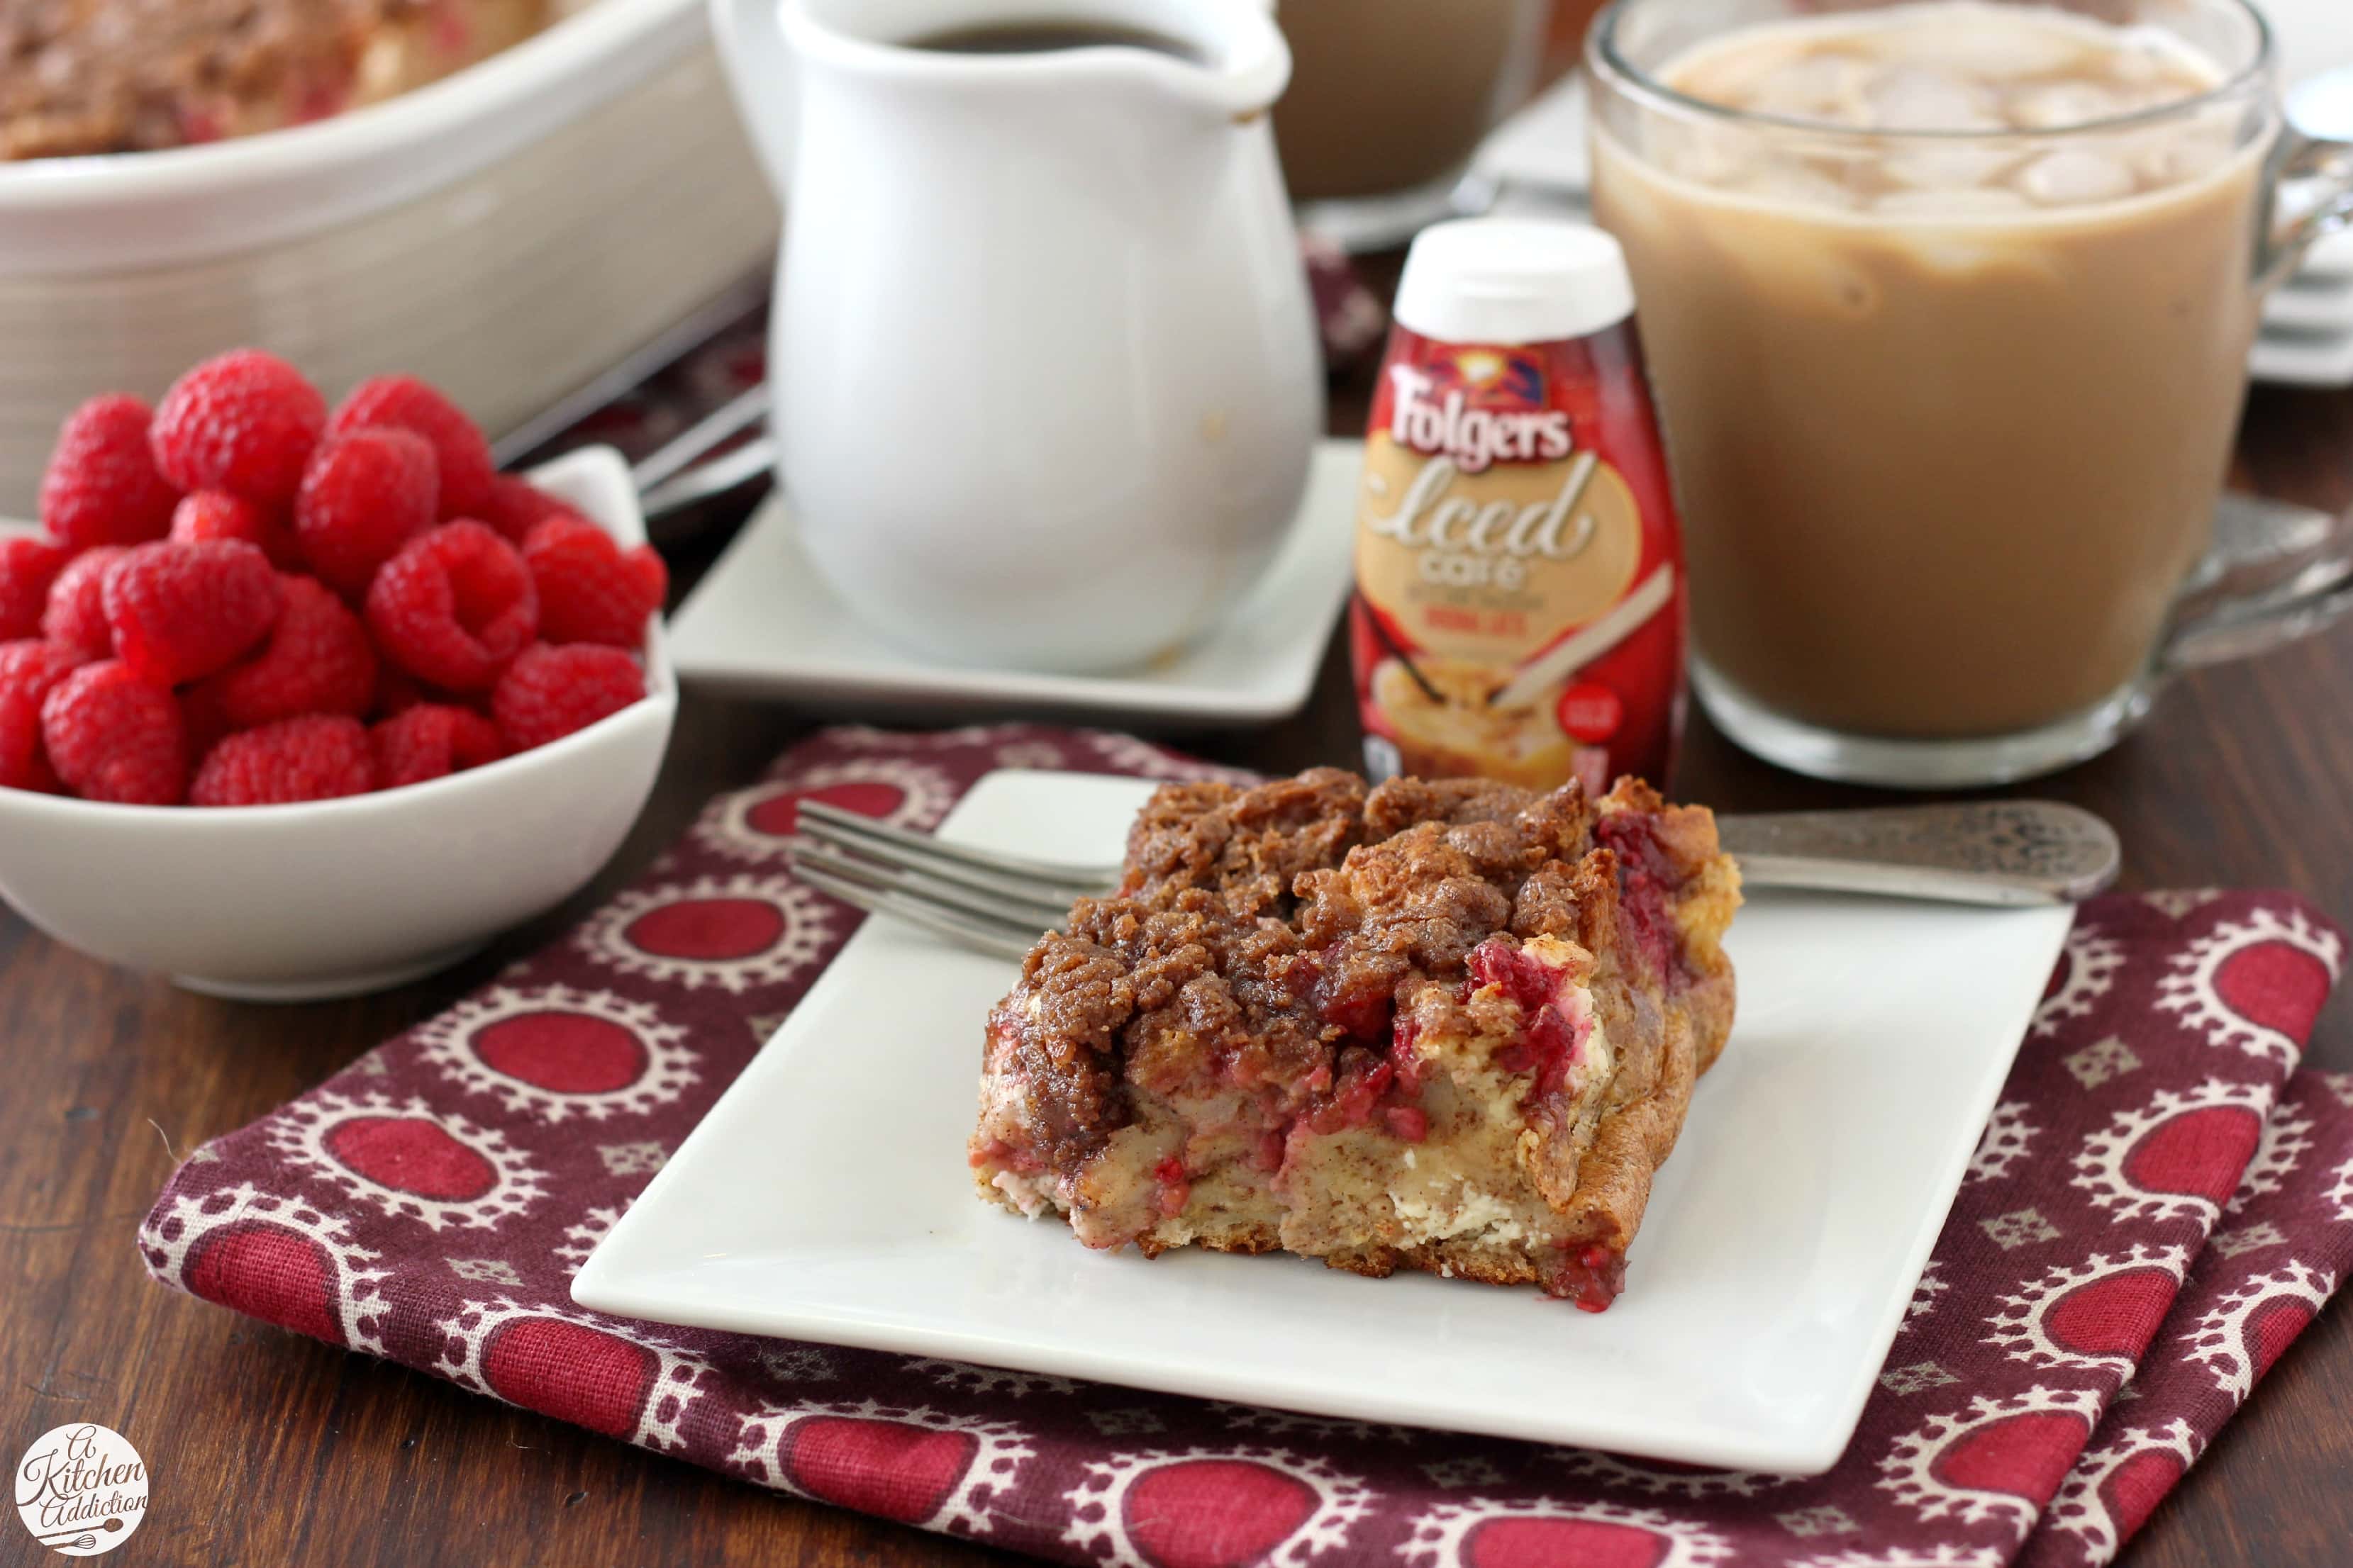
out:
<path id="1" fill-rule="evenodd" d="M 1440 343 L 1551 343 L 1633 315 L 1633 280 L 1586 223 L 1461 219 L 1414 237 L 1395 315 Z"/>

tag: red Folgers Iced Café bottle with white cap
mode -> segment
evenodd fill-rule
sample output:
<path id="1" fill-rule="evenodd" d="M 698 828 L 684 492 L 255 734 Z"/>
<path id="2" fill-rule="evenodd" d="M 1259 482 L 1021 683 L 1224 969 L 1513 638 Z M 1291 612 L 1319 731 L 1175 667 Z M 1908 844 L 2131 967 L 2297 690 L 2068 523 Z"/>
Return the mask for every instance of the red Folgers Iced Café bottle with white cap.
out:
<path id="1" fill-rule="evenodd" d="M 1666 783 L 1682 531 L 1609 235 L 1414 240 L 1365 437 L 1351 644 L 1377 776 Z"/>

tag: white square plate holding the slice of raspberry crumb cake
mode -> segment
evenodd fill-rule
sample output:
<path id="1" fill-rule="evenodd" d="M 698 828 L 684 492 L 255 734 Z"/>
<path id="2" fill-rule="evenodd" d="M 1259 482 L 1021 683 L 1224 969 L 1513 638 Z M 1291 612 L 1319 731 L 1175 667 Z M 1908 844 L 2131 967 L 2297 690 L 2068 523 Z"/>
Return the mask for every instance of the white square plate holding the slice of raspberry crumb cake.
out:
<path id="1" fill-rule="evenodd" d="M 1151 785 L 1002 771 L 941 835 L 1115 858 Z M 972 1194 L 1012 966 L 871 919 L 572 1286 L 598 1312 L 1812 1474 L 1854 1432 L 2066 910 L 1758 896 L 1626 1293 L 1089 1253 Z"/>

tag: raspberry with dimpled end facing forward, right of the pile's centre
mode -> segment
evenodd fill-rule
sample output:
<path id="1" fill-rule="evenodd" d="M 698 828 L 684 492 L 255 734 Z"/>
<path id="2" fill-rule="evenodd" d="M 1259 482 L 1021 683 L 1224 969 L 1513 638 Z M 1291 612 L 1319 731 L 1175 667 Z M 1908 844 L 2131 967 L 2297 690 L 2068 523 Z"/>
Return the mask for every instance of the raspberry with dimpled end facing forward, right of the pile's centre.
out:
<path id="1" fill-rule="evenodd" d="M 376 649 L 449 691 L 482 691 L 539 630 L 532 574 L 480 522 L 445 522 L 384 562 L 367 588 Z"/>

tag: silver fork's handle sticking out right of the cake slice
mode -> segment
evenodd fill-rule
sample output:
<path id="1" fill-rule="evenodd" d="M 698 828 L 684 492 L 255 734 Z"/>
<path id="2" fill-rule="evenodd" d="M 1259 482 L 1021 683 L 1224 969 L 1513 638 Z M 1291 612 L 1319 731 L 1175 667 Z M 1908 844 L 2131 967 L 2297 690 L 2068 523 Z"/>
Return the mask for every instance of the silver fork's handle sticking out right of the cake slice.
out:
<path id="1" fill-rule="evenodd" d="M 1748 886 L 2040 905 L 2089 898 L 2122 863 L 2108 823 L 2047 799 L 1722 816 L 1715 827 Z"/>

